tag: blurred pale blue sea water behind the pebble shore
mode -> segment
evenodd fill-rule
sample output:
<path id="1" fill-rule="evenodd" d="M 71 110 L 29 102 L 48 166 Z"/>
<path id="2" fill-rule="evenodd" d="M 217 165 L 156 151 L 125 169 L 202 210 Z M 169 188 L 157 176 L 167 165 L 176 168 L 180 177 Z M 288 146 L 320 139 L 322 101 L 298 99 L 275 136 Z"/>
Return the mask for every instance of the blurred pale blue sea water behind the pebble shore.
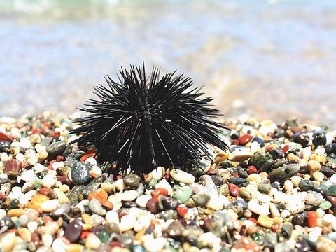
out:
<path id="1" fill-rule="evenodd" d="M 226 118 L 336 127 L 335 41 L 335 0 L 0 0 L 0 116 L 71 113 L 145 61 L 204 85 Z"/>

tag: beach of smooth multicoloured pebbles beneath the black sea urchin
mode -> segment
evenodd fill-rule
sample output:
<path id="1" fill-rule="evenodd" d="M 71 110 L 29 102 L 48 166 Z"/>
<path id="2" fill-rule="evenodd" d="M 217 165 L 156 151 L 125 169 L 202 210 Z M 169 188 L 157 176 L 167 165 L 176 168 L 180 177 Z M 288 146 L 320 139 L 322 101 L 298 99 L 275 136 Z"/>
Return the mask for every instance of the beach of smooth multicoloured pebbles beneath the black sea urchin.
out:
<path id="1" fill-rule="evenodd" d="M 1 251 L 336 251 L 336 131 L 225 119 L 227 152 L 118 174 L 78 114 L 0 118 Z"/>

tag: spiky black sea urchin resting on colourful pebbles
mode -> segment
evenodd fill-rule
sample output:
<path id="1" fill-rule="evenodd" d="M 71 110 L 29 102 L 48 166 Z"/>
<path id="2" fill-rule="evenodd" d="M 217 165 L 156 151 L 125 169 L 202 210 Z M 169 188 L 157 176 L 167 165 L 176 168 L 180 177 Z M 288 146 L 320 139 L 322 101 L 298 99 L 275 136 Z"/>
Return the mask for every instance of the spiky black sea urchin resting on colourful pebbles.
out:
<path id="1" fill-rule="evenodd" d="M 80 109 L 89 114 L 76 120 L 80 127 L 73 133 L 83 134 L 76 142 L 94 144 L 101 160 L 135 172 L 186 165 L 210 155 L 207 144 L 225 151 L 216 134 L 225 127 L 210 120 L 219 116 L 208 104 L 213 98 L 200 99 L 199 89 L 190 90 L 191 78 L 174 74 L 160 78 L 160 69 L 153 68 L 146 77 L 144 66 L 131 66 L 120 70 L 120 83 L 107 76 L 109 87 L 94 88 L 100 100 L 87 99 Z"/>

